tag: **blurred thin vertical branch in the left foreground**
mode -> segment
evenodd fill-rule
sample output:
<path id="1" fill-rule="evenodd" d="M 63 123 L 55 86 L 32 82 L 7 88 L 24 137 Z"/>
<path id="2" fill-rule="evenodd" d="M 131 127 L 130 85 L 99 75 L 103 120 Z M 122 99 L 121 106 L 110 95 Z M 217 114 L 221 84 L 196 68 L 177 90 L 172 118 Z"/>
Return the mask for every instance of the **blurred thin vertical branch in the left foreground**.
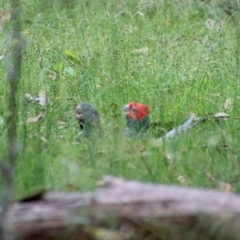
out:
<path id="1" fill-rule="evenodd" d="M 3 191 L 0 211 L 0 239 L 10 239 L 10 231 L 5 228 L 5 218 L 13 192 L 13 171 L 18 156 L 17 146 L 17 89 L 20 80 L 23 40 L 21 37 L 20 0 L 10 0 L 12 36 L 7 63 L 7 80 L 9 81 L 9 99 L 7 109 L 8 156 L 0 162 L 3 178 Z"/>

